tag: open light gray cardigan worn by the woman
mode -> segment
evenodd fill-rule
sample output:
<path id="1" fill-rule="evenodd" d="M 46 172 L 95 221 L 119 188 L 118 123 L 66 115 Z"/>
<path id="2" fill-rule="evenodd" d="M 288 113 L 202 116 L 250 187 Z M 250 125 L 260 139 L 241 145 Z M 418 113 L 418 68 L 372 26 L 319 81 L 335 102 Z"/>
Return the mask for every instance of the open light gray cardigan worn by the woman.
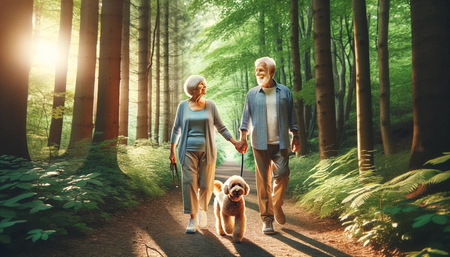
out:
<path id="1" fill-rule="evenodd" d="M 217 148 L 216 148 L 216 127 L 217 132 L 220 133 L 226 140 L 229 140 L 232 136 L 228 129 L 222 122 L 217 112 L 216 104 L 213 101 L 206 99 L 205 104 L 206 111 L 206 162 L 207 164 L 216 163 L 217 158 Z M 176 110 L 175 123 L 172 129 L 171 143 L 178 144 L 178 159 L 180 164 L 184 164 L 184 153 L 186 151 L 186 140 L 189 128 L 189 102 L 188 100 L 183 100 L 178 105 Z"/>

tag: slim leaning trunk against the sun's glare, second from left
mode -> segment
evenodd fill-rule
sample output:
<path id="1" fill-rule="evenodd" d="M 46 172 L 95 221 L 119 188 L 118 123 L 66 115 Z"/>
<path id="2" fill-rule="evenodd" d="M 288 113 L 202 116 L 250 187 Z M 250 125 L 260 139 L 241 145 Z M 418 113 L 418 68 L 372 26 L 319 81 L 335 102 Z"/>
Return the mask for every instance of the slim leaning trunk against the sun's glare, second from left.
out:
<path id="1" fill-rule="evenodd" d="M 64 100 L 66 94 L 67 66 L 72 33 L 73 0 L 61 0 L 59 19 L 58 55 L 56 57 L 55 86 L 49 146 L 59 149 L 63 131 Z"/>

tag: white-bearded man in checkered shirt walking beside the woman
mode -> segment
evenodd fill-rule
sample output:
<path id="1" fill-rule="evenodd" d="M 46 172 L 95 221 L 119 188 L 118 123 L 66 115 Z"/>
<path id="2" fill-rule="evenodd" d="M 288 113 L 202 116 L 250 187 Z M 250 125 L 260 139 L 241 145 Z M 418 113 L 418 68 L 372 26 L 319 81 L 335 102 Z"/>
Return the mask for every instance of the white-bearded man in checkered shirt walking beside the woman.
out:
<path id="1" fill-rule="evenodd" d="M 240 153 L 247 152 L 247 134 L 252 131 L 256 183 L 262 233 L 275 234 L 273 220 L 286 222 L 282 209 L 284 192 L 289 181 L 289 145 L 293 152 L 300 148 L 297 116 L 292 93 L 274 79 L 274 59 L 263 57 L 255 61 L 259 86 L 248 91 L 242 115 Z M 293 134 L 289 143 L 289 131 Z M 275 179 L 273 193 L 272 177 Z"/>

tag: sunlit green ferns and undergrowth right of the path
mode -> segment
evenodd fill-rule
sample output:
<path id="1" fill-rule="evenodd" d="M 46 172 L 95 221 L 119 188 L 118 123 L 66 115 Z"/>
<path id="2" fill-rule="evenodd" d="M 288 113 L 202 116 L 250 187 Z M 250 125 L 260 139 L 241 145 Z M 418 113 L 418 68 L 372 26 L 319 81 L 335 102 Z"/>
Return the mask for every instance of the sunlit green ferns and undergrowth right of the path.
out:
<path id="1" fill-rule="evenodd" d="M 320 217 L 340 215 L 345 231 L 364 245 L 388 243 L 412 250 L 428 247 L 409 253 L 418 257 L 447 254 L 450 192 L 423 195 L 414 200 L 405 195 L 419 185 L 448 183 L 450 171 L 415 170 L 389 180 L 392 174 L 387 171 L 393 168 L 385 166 L 381 168 L 384 171 L 366 171 L 360 175 L 356 153 L 352 149 L 340 157 L 322 160 L 312 168 L 308 173 L 313 174 L 293 189 L 298 203 Z M 450 153 L 444 154 L 429 162 L 448 161 Z"/>

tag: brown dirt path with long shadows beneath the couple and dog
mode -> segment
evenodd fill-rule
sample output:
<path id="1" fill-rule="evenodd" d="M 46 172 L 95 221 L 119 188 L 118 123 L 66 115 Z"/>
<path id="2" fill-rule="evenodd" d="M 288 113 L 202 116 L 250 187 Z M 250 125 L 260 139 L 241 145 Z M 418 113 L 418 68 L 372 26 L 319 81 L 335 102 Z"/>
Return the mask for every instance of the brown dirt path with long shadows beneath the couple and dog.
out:
<path id="1" fill-rule="evenodd" d="M 225 182 L 239 171 L 237 163 L 225 162 L 216 168 L 216 179 Z M 286 224 L 274 222 L 276 234 L 262 234 L 255 173 L 244 170 L 243 178 L 250 192 L 244 198 L 247 227 L 241 243 L 233 243 L 231 236 L 216 233 L 214 195 L 207 211 L 207 227 L 186 234 L 189 216 L 183 214 L 181 188 L 177 188 L 162 198 L 144 201 L 135 209 L 113 215 L 108 222 L 94 226 L 89 234 L 61 236 L 54 242 L 36 245 L 31 251 L 15 252 L 14 256 L 385 256 L 373 248 L 363 247 L 356 239 L 349 239 L 338 220 L 319 219 L 297 206 L 289 196 L 283 205 Z M 401 256 L 401 253 L 389 256 Z"/>

